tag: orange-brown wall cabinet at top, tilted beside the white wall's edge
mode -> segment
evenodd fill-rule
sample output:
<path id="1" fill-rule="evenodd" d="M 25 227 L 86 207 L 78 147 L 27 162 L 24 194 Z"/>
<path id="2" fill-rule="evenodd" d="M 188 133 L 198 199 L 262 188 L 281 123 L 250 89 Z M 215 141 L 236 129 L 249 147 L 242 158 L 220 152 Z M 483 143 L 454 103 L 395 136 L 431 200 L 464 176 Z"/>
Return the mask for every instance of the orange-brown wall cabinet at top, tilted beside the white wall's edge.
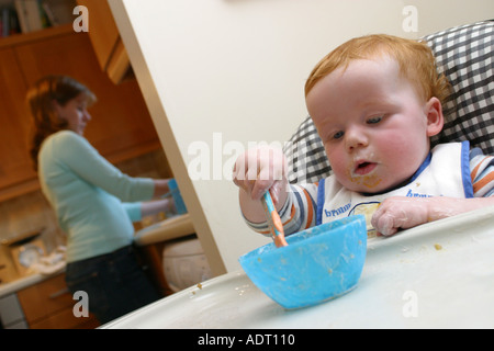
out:
<path id="1" fill-rule="evenodd" d="M 115 84 L 133 77 L 127 52 L 120 37 L 119 29 L 106 1 L 77 0 L 88 8 L 90 13 L 89 37 L 94 48 L 98 63 L 110 80 Z"/>

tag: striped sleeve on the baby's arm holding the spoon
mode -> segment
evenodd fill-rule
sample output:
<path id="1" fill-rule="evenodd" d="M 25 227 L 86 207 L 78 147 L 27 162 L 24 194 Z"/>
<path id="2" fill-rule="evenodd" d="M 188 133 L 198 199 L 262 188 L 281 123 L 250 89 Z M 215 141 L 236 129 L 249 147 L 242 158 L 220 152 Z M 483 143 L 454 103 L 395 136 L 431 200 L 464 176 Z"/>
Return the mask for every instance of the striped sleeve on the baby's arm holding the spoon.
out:
<path id="1" fill-rule="evenodd" d="M 287 236 L 315 225 L 316 194 L 317 184 L 290 185 L 287 202 L 279 212 Z M 244 219 L 252 230 L 271 237 L 267 222 L 251 223 Z"/>

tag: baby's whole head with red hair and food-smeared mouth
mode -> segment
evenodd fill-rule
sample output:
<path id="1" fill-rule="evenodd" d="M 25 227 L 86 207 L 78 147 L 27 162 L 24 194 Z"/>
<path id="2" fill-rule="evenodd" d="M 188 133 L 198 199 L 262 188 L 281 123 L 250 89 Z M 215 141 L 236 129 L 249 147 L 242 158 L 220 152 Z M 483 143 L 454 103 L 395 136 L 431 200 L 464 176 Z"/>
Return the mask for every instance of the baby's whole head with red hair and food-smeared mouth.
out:
<path id="1" fill-rule="evenodd" d="M 353 38 L 324 57 L 305 84 L 307 110 L 335 176 L 358 192 L 409 179 L 444 125 L 447 80 L 425 43 Z"/>

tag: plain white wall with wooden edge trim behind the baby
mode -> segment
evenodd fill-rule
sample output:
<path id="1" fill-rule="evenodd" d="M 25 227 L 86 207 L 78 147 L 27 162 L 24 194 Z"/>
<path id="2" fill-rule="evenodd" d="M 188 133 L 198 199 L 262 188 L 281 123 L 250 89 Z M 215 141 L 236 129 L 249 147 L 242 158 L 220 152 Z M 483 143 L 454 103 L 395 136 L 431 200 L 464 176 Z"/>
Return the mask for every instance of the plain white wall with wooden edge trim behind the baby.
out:
<path id="1" fill-rule="evenodd" d="M 238 269 L 239 256 L 268 242 L 242 219 L 237 189 L 221 174 L 233 160 L 223 148 L 287 140 L 306 116 L 304 81 L 323 55 L 363 34 L 416 38 L 494 18 L 492 0 L 109 2 L 216 274 Z M 416 32 L 404 31 L 406 5 L 418 11 Z M 189 147 L 197 145 L 210 148 L 202 155 L 211 156 L 210 179 L 188 177 L 199 158 Z"/>

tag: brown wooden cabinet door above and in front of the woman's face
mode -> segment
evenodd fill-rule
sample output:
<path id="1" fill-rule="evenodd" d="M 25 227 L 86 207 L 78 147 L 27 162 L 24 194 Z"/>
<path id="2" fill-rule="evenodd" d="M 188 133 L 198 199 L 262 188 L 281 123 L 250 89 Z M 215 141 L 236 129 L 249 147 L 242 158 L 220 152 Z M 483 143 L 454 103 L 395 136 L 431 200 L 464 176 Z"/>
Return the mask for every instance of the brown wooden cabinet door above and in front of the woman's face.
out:
<path id="1" fill-rule="evenodd" d="M 85 136 L 110 161 L 160 147 L 136 80 L 113 84 L 100 69 L 87 33 L 68 32 L 14 50 L 29 86 L 46 75 L 67 75 L 96 93 Z"/>

